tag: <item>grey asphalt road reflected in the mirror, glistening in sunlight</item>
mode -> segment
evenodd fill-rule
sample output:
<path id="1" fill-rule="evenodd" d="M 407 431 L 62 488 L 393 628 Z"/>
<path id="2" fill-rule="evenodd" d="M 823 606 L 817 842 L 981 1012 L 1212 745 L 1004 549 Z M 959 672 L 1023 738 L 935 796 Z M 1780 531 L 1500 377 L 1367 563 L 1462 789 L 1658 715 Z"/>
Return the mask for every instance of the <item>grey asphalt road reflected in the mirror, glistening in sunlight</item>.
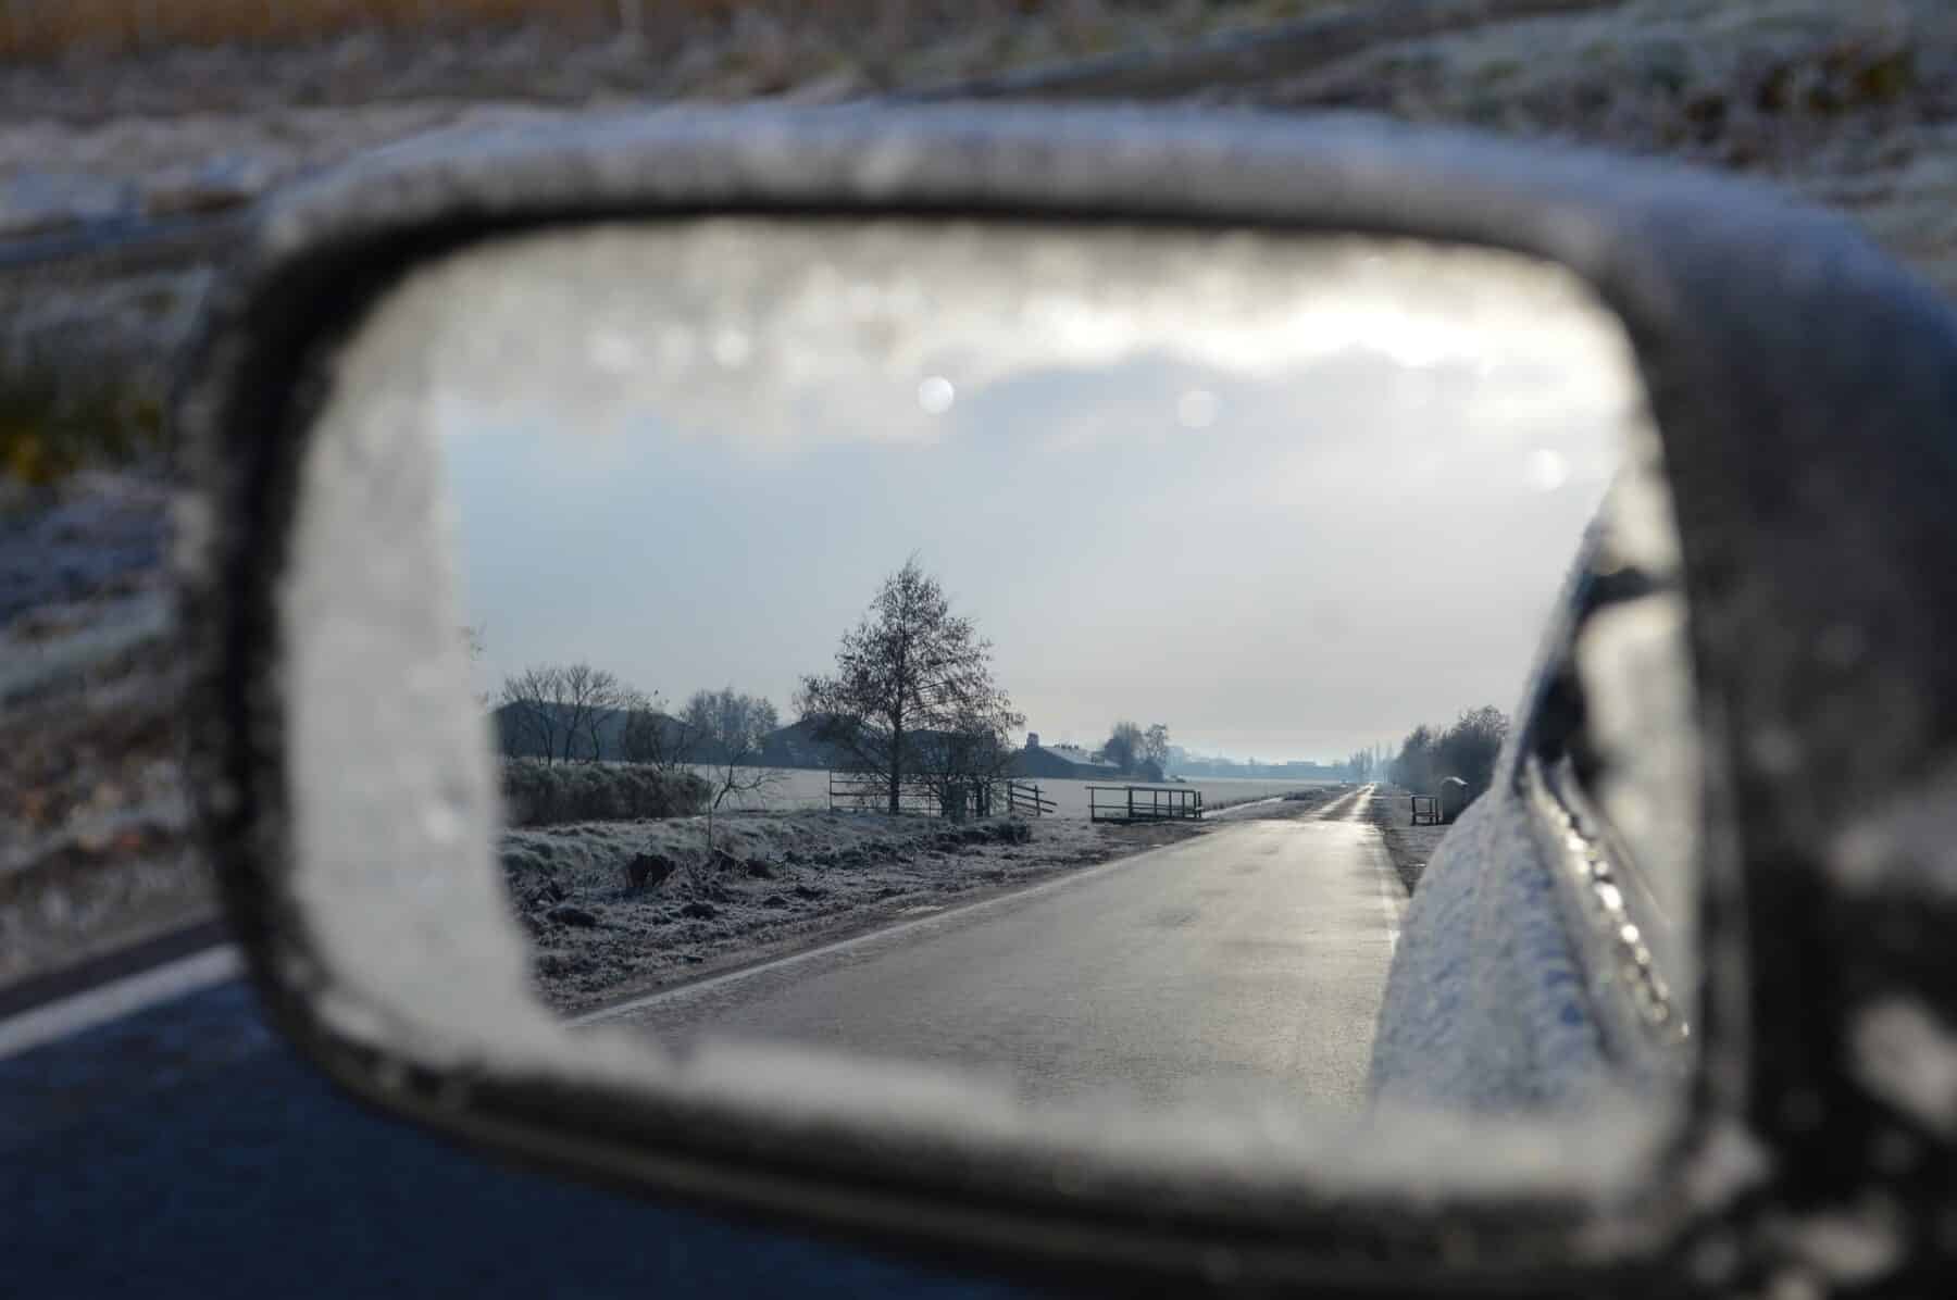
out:
<path id="1" fill-rule="evenodd" d="M 1405 895 L 1358 795 L 658 993 L 585 1024 L 1004 1071 L 1031 1100 L 1360 1102 Z"/>

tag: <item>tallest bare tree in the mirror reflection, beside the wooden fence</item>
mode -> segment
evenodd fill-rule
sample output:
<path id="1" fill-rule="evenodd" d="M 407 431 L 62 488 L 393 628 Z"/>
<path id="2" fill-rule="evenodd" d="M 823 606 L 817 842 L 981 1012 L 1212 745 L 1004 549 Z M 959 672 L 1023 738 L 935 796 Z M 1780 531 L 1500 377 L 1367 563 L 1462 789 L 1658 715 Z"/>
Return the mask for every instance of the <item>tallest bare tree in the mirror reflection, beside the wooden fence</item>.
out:
<path id="1" fill-rule="evenodd" d="M 843 632 L 836 672 L 802 679 L 796 707 L 816 719 L 818 740 L 881 777 L 892 814 L 906 781 L 949 797 L 961 781 L 998 775 L 1008 732 L 1025 722 L 992 679 L 992 642 L 951 613 L 916 556 Z"/>

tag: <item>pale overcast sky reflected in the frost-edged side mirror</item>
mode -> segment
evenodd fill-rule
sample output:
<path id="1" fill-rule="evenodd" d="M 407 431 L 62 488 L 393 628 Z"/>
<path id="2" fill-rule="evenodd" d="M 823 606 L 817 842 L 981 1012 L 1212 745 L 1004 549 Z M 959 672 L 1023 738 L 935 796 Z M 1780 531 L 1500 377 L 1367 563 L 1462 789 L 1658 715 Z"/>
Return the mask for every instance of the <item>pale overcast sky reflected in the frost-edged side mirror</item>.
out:
<path id="1" fill-rule="evenodd" d="M 1045 740 L 1343 758 L 1513 711 L 1634 405 L 1566 282 L 1458 253 L 708 223 L 489 270 L 395 303 L 481 689 L 787 717 L 916 552 Z"/>

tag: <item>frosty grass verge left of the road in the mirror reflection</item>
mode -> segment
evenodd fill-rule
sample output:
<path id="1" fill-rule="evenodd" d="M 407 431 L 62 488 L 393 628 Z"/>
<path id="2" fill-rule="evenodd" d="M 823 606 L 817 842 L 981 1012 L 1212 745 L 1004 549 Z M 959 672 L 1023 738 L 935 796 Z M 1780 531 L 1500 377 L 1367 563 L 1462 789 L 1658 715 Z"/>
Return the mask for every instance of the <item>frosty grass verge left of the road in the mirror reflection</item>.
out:
<path id="1" fill-rule="evenodd" d="M 503 834 L 503 873 L 550 1006 L 587 1010 L 1206 832 L 746 811 L 714 820 L 708 856 L 705 820 Z"/>

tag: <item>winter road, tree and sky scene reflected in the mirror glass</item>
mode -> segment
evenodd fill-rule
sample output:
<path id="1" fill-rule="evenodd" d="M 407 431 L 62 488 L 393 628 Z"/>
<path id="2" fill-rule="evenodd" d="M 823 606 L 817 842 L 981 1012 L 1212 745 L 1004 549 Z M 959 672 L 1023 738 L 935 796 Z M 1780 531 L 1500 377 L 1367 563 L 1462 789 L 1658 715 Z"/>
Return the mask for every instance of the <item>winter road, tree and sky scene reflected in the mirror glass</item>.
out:
<path id="1" fill-rule="evenodd" d="M 1566 274 L 706 219 L 456 255 L 374 331 L 440 450 L 495 852 L 558 1012 L 1035 1102 L 1554 1104 L 1593 1092 L 1456 1042 L 1570 1022 L 1476 983 L 1519 924 L 1476 856 L 1526 814 L 1589 836 L 1534 895 L 1587 1083 L 1677 1075 L 1673 544 L 1620 327 Z M 1577 722 L 1497 809 L 1607 497 L 1548 648 Z"/>

